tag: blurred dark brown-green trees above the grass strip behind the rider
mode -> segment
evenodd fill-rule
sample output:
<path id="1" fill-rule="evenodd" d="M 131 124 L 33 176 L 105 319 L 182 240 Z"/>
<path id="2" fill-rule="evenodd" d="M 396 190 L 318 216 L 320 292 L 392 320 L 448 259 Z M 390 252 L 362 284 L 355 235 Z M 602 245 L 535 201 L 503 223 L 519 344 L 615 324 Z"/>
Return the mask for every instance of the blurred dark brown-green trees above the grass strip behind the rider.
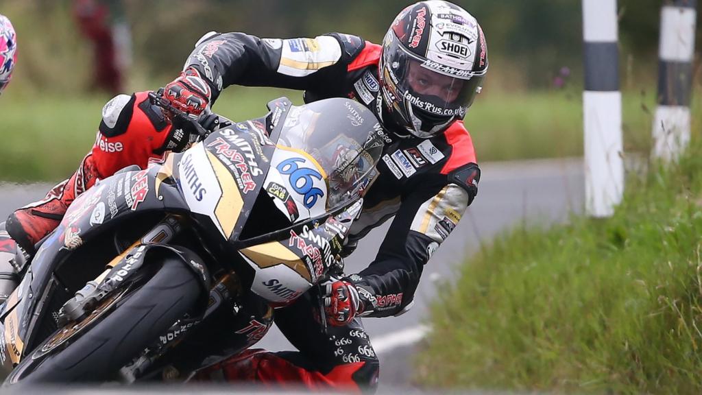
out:
<path id="1" fill-rule="evenodd" d="M 133 63 L 126 87 L 145 89 L 177 74 L 202 34 L 242 31 L 259 37 L 359 34 L 379 42 L 392 18 L 412 1 L 105 0 L 131 30 Z M 662 0 L 619 0 L 624 88 L 653 87 Z M 581 1 L 459 0 L 481 22 L 489 43 L 487 89 L 544 89 L 562 67 L 581 83 Z M 116 11 L 115 11 L 116 10 Z M 18 30 L 19 63 L 13 89 L 84 91 L 90 44 L 79 34 L 69 0 L 4 0 L 0 13 Z M 702 35 L 698 30 L 698 42 Z M 645 76 L 643 79 L 641 76 Z M 22 86 L 17 86 L 22 85 Z"/>

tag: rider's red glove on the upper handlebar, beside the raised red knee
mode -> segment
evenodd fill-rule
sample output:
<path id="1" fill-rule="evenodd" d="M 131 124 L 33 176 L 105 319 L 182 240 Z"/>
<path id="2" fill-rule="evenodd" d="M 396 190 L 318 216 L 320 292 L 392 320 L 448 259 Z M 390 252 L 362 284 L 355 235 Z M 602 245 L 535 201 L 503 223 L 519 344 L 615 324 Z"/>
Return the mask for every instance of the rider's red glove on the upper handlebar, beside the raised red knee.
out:
<path id="1" fill-rule="evenodd" d="M 164 88 L 164 98 L 173 107 L 195 117 L 207 108 L 212 91 L 200 73 L 193 67 L 188 67 L 180 76 Z"/>

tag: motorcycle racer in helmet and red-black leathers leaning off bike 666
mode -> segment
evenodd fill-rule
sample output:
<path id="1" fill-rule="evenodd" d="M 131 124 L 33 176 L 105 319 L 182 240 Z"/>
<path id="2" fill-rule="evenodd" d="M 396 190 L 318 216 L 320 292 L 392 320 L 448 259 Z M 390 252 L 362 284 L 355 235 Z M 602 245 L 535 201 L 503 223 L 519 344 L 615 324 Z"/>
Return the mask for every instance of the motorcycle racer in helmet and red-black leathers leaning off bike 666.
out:
<path id="1" fill-rule="evenodd" d="M 373 389 L 378 358 L 359 317 L 393 316 L 411 306 L 423 266 L 477 194 L 479 168 L 463 117 L 482 87 L 487 46 L 477 20 L 446 1 L 405 8 L 383 44 L 331 33 L 313 39 L 260 39 L 244 33 L 202 37 L 164 96 L 201 115 L 232 84 L 304 90 L 306 102 L 350 97 L 376 113 L 385 141 L 380 175 L 366 193 L 347 252 L 392 216 L 376 259 L 359 273 L 326 283 L 331 325 L 314 316 L 310 298 L 278 309 L 275 320 L 299 351 L 249 350 L 202 370 L 197 380 L 303 383 L 310 388 Z M 103 109 L 93 150 L 76 174 L 46 199 L 19 209 L 7 231 L 22 247 L 49 233 L 74 197 L 96 179 L 189 137 L 173 127 L 147 93 L 121 95 Z"/>

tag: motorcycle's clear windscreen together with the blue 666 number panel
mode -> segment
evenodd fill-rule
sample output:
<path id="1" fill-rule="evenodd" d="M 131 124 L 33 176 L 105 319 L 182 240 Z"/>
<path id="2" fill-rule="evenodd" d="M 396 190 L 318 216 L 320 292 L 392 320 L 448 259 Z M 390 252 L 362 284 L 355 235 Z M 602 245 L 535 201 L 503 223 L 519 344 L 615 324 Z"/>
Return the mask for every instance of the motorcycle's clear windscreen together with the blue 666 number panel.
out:
<path id="1" fill-rule="evenodd" d="M 356 101 L 331 98 L 293 106 L 272 164 L 311 215 L 362 196 L 378 175 L 380 124 Z"/>

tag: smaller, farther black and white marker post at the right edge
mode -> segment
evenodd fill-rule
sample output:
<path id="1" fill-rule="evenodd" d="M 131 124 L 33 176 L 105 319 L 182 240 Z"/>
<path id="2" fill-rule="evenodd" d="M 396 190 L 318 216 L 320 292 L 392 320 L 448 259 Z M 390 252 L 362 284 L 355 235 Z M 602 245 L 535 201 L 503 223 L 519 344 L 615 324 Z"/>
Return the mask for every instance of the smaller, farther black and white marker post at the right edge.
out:
<path id="1" fill-rule="evenodd" d="M 671 0 L 661 8 L 653 155 L 663 160 L 675 160 L 690 141 L 695 8 L 696 0 Z"/>

